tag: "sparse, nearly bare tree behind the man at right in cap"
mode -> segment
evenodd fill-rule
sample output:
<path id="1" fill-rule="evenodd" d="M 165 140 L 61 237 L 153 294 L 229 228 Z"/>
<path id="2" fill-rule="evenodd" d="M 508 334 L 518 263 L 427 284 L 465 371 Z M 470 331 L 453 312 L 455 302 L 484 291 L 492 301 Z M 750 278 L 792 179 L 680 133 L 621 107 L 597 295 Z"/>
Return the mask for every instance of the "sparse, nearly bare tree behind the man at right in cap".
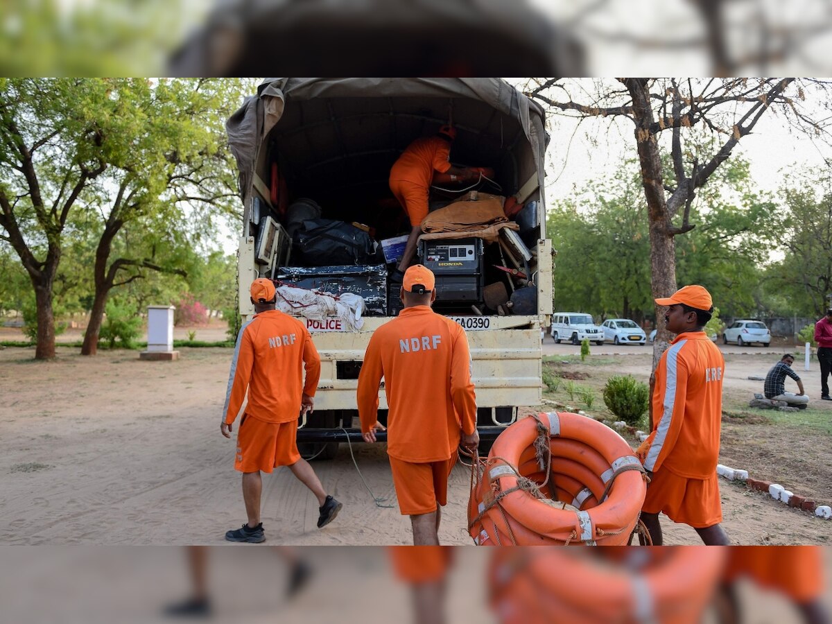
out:
<path id="1" fill-rule="evenodd" d="M 817 91 L 828 90 L 824 82 L 811 84 Z M 572 88 L 589 99 L 578 102 Z M 779 111 L 801 129 L 825 130 L 801 107 L 805 89 L 793 78 L 621 78 L 617 85 L 595 82 L 592 90 L 586 83 L 547 79 L 530 83 L 526 93 L 552 111 L 631 123 L 648 215 L 654 298 L 676 290 L 676 236 L 696 227 L 691 222 L 696 191 L 766 113 Z M 707 133 L 714 136 L 716 148 L 698 151 L 701 136 Z M 662 166 L 663 152 L 672 165 L 669 171 Z M 657 315 L 657 320 L 654 363 L 666 349 L 668 337 L 664 319 Z"/>

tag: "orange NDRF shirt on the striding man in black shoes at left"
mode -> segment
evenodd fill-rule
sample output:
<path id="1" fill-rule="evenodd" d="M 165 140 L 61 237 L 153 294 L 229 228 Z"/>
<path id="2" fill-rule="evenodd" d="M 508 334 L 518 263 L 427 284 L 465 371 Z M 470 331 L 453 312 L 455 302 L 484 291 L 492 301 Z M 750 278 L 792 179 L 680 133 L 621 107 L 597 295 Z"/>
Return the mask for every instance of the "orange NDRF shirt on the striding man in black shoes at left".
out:
<path id="1" fill-rule="evenodd" d="M 303 394 L 314 396 L 319 378 L 320 358 L 304 324 L 280 310 L 255 314 L 237 337 L 223 422 L 237 418 L 248 388 L 246 414 L 288 423 L 298 418 Z"/>

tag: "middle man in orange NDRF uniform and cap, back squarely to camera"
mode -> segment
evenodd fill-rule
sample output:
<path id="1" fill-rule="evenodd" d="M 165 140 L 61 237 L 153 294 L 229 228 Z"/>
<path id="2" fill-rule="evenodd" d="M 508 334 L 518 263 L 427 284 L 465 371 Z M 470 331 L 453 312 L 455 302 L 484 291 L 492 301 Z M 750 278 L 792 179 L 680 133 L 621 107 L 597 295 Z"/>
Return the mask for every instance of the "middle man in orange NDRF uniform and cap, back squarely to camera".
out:
<path id="1" fill-rule="evenodd" d="M 410 516 L 415 546 L 438 546 L 439 509 L 462 439 L 476 448 L 477 402 L 465 330 L 430 309 L 433 272 L 422 265 L 404 274 L 404 310 L 375 330 L 359 374 L 358 404 L 365 442 L 375 442 L 379 382 L 389 405 L 387 454 L 399 509 Z"/>

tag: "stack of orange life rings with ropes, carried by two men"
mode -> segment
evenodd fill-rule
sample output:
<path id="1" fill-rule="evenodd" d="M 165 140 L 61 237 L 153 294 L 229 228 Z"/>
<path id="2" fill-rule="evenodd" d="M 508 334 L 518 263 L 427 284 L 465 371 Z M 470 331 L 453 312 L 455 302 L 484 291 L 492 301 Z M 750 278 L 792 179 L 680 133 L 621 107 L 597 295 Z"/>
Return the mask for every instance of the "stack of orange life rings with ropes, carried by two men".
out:
<path id="1" fill-rule="evenodd" d="M 606 425 L 569 412 L 532 415 L 475 458 L 468 532 L 479 545 L 629 542 L 646 473 Z"/>

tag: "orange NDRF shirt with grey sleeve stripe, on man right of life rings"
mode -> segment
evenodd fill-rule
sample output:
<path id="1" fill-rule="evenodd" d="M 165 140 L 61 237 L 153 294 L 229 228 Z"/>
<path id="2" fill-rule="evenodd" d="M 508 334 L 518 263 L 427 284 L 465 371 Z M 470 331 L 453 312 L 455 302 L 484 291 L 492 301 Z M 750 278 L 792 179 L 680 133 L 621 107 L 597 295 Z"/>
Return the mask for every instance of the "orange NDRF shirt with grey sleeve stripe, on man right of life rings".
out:
<path id="1" fill-rule="evenodd" d="M 714 476 L 720 453 L 725 359 L 705 332 L 676 336 L 656 367 L 653 432 L 644 467 L 680 477 Z"/>

